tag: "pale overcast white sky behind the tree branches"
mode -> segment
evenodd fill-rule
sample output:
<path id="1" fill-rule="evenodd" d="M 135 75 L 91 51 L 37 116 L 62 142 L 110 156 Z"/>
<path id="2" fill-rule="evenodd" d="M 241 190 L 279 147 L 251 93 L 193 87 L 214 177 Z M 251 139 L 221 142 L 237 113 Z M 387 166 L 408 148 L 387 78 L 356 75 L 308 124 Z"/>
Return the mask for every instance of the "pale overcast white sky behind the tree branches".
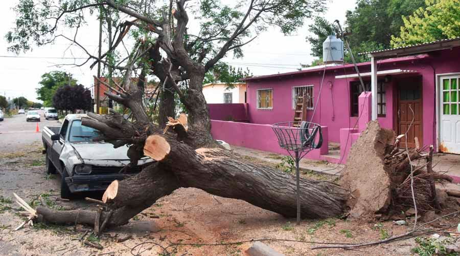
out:
<path id="1" fill-rule="evenodd" d="M 338 19 L 343 25 L 347 10 L 353 10 L 356 0 L 329 0 L 328 11 L 324 17 L 330 22 Z M 89 64 L 82 67 L 74 65 L 60 66 L 62 64 L 81 63 L 86 55 L 76 46 L 70 46 L 66 39 L 57 39 L 54 45 L 33 47 L 32 51 L 16 55 L 7 50 L 8 42 L 4 35 L 14 26 L 16 13 L 12 8 L 17 0 L 4 1 L 0 9 L 2 23 L 0 23 L 0 95 L 15 98 L 24 96 L 32 101 L 36 99 L 36 88 L 42 74 L 54 70 L 70 72 L 78 83 L 91 87 L 94 83 L 93 75 L 97 68 L 92 70 Z M 99 26 L 95 20 L 89 20 L 87 26 L 80 29 L 78 39 L 90 53 L 97 55 Z M 268 75 L 295 71 L 300 68 L 300 63 L 311 63 L 310 45 L 305 37 L 308 35 L 308 25 L 312 20 L 306 20 L 305 25 L 291 36 L 285 36 L 277 28 L 270 28 L 260 34 L 254 41 L 243 47 L 244 57 L 234 59 L 225 57 L 223 61 L 234 67 L 244 70 L 249 68 L 252 75 Z M 193 26 L 193 25 L 191 25 Z M 73 36 L 71 31 L 60 30 L 67 36 Z M 129 48 L 129 42 L 128 42 Z M 74 59 L 77 58 L 77 59 Z"/>

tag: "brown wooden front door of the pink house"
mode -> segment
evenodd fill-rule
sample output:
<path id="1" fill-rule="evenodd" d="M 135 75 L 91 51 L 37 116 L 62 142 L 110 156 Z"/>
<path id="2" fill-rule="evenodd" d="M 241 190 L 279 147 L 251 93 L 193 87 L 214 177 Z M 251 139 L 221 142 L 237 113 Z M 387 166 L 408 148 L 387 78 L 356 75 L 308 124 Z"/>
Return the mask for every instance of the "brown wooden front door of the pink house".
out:
<path id="1" fill-rule="evenodd" d="M 398 82 L 398 135 L 405 134 L 399 144 L 400 147 L 415 147 L 415 137 L 420 145 L 423 145 L 423 108 L 422 108 L 422 84 L 419 78 L 406 78 Z M 410 129 L 409 129 L 410 126 Z M 407 130 L 409 129 L 409 130 Z"/>

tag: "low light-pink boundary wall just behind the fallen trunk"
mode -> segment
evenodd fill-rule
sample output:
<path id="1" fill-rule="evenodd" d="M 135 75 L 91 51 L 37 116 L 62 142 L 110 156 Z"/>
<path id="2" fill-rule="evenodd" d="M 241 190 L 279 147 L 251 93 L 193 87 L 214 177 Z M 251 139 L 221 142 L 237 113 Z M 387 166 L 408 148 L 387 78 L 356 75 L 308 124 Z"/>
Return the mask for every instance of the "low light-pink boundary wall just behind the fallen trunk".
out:
<path id="1" fill-rule="evenodd" d="M 326 156 L 329 152 L 328 127 L 321 126 L 321 129 L 323 130 L 323 145 L 309 152 L 305 158 L 338 163 L 339 159 Z M 287 151 L 278 144 L 277 136 L 270 124 L 211 120 L 211 134 L 214 139 L 223 140 L 231 145 L 288 155 Z"/>

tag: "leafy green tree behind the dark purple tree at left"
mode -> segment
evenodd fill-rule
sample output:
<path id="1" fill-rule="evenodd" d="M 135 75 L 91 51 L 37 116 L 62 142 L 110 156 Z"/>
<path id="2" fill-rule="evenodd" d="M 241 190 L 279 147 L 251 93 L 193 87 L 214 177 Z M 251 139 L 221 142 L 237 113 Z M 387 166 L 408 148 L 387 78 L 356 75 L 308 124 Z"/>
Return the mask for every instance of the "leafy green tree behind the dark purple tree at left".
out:
<path id="1" fill-rule="evenodd" d="M 58 88 L 64 85 L 74 86 L 77 80 L 72 78 L 72 75 L 63 71 L 52 71 L 41 75 L 41 80 L 38 82 L 40 87 L 36 89 L 37 99 L 43 101 L 44 106 L 53 106 L 53 96 Z"/>

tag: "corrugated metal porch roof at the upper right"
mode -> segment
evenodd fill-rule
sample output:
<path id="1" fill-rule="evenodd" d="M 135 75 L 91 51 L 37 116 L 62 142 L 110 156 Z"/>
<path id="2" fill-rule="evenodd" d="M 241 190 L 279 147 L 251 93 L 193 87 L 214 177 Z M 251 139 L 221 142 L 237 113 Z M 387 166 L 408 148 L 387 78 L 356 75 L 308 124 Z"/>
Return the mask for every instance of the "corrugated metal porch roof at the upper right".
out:
<path id="1" fill-rule="evenodd" d="M 431 51 L 449 49 L 458 46 L 460 46 L 460 37 L 436 40 L 431 42 L 423 42 L 422 44 L 402 46 L 392 49 L 377 50 L 371 52 L 363 52 L 358 54 L 367 54 L 371 57 L 388 58 L 427 53 Z"/>

